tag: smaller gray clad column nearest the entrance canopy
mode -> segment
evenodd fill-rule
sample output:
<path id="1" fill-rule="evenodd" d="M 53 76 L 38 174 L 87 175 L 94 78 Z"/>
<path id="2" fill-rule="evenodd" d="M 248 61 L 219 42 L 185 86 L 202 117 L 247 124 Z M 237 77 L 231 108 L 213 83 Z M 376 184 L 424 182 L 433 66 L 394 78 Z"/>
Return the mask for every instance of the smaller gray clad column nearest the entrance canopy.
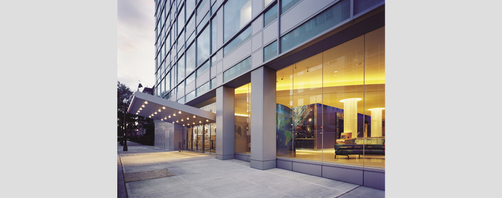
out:
<path id="1" fill-rule="evenodd" d="M 216 158 L 234 158 L 234 88 L 216 88 Z"/>

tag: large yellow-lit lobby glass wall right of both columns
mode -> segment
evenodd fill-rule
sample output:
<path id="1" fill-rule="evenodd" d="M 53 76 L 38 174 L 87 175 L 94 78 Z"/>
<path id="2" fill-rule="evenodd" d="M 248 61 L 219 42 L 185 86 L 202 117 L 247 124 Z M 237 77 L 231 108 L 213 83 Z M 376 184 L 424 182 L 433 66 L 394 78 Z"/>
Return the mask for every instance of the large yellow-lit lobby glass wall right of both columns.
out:
<path id="1" fill-rule="evenodd" d="M 385 168 L 385 27 L 277 71 L 277 156 Z"/>

